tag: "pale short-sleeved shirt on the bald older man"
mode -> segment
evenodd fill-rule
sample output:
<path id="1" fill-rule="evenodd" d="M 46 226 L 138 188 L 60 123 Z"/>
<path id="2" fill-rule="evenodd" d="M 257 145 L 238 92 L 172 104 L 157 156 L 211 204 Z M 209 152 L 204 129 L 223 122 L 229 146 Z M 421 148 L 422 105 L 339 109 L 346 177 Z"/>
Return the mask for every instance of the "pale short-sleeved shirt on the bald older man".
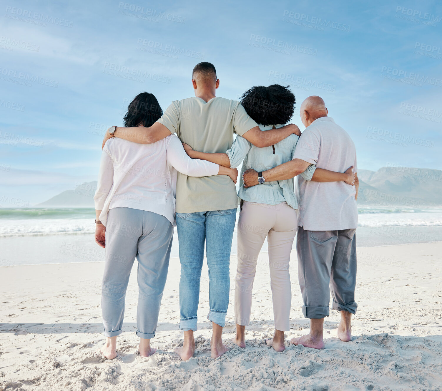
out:
<path id="1" fill-rule="evenodd" d="M 302 133 L 294 153 L 317 168 L 343 173 L 356 163 L 356 148 L 348 133 L 330 117 L 313 121 Z M 340 182 L 313 182 L 298 177 L 299 226 L 328 231 L 357 228 L 358 208 L 354 186 Z"/>

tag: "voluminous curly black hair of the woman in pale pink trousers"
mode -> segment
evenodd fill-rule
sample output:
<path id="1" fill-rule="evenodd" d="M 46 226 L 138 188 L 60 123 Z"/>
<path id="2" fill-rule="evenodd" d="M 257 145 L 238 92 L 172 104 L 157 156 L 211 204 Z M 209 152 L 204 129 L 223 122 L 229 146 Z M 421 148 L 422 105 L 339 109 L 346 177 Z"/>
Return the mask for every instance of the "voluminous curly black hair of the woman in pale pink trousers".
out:
<path id="1" fill-rule="evenodd" d="M 290 86 L 251 87 L 242 94 L 241 104 L 246 113 L 258 124 L 283 125 L 290 121 L 295 109 L 295 95 Z"/>

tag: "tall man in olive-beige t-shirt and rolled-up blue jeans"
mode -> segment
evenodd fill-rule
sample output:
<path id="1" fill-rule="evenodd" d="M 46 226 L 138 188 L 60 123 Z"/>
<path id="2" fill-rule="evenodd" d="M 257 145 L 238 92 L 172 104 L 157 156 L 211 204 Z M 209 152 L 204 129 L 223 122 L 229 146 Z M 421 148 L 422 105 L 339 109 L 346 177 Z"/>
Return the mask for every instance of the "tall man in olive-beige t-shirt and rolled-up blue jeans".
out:
<path id="1" fill-rule="evenodd" d="M 136 143 L 155 143 L 173 133 L 194 150 L 225 153 L 233 143 L 233 133 L 257 147 L 269 147 L 295 133 L 296 125 L 261 131 L 237 101 L 215 96 L 219 86 L 215 67 L 202 62 L 194 67 L 192 84 L 195 98 L 172 102 L 163 117 L 149 128 L 115 128 L 112 135 Z M 211 355 L 227 351 L 222 343 L 222 328 L 229 305 L 229 264 L 236 220 L 236 188 L 228 176 L 188 177 L 178 173 L 176 188 L 176 226 L 179 240 L 181 278 L 179 283 L 180 329 L 183 346 L 176 352 L 183 360 L 193 356 L 197 330 L 197 311 L 201 269 L 206 242 L 209 268 L 207 319 L 212 321 Z"/>

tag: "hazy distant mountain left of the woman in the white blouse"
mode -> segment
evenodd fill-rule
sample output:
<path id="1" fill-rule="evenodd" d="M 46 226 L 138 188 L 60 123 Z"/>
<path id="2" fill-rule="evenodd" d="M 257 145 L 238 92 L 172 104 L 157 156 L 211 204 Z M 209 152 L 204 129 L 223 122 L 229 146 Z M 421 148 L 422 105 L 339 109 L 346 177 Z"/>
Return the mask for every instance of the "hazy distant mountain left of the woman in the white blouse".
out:
<path id="1" fill-rule="evenodd" d="M 49 208 L 72 208 L 72 207 L 94 207 L 94 194 L 97 188 L 97 181 L 84 182 L 78 184 L 75 190 L 66 190 L 48 199 L 45 202 L 39 203 L 37 207 Z"/>

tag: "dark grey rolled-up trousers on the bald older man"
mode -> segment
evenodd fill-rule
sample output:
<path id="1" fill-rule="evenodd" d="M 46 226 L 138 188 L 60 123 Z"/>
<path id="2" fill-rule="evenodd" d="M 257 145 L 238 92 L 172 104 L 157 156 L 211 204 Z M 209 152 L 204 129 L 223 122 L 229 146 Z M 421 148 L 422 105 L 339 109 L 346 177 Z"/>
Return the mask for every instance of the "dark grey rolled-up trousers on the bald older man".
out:
<path id="1" fill-rule="evenodd" d="M 330 314 L 330 291 L 333 309 L 356 313 L 356 229 L 307 231 L 298 228 L 298 277 L 302 313 L 309 319 Z"/>

